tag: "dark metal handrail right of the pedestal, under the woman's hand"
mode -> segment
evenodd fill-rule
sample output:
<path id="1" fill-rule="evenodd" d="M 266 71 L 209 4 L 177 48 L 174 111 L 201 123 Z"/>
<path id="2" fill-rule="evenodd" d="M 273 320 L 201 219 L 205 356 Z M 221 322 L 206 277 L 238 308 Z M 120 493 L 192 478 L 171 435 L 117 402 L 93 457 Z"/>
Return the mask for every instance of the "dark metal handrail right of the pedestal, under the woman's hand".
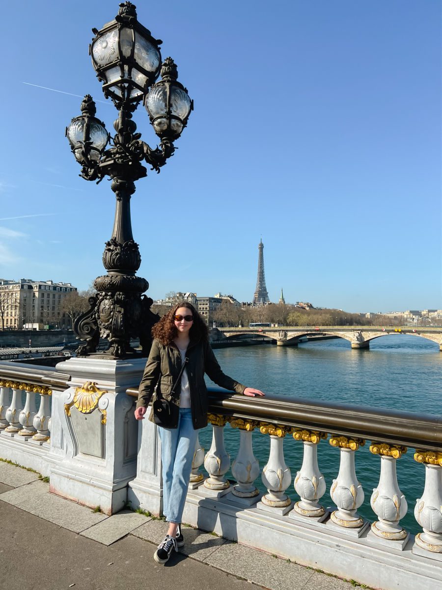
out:
<path id="1" fill-rule="evenodd" d="M 442 451 L 442 416 L 368 406 L 337 404 L 292 396 L 245 397 L 208 388 L 209 412 L 226 417 L 268 422 L 364 438 L 378 442 Z M 137 398 L 138 389 L 127 395 Z"/>

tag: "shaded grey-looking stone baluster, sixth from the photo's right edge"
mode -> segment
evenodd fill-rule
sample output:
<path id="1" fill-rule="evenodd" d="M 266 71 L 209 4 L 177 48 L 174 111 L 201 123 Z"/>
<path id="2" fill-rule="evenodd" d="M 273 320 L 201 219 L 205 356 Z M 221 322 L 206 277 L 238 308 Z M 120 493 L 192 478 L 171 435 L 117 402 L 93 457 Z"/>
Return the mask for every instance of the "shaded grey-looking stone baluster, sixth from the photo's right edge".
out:
<path id="1" fill-rule="evenodd" d="M 259 476 L 259 463 L 253 455 L 252 432 L 258 426 L 253 420 L 230 419 L 230 426 L 239 429 L 238 455 L 232 463 L 232 474 L 238 483 L 233 486 L 232 494 L 236 500 L 245 504 L 255 503 L 259 494 L 255 480 Z"/>

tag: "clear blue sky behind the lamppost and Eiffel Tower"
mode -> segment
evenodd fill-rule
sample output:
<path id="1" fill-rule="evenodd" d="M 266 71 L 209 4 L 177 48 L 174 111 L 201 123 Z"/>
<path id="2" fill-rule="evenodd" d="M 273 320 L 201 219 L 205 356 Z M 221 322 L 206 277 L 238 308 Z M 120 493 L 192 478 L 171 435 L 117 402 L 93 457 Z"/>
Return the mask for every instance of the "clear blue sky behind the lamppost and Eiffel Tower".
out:
<path id="1" fill-rule="evenodd" d="M 348 311 L 441 303 L 441 4 L 437 0 L 135 2 L 194 112 L 137 183 L 138 274 L 251 300 L 260 235 L 271 300 Z M 0 276 L 103 274 L 114 194 L 78 176 L 65 126 L 104 101 L 92 27 L 118 2 L 2 7 Z M 97 102 L 112 129 L 116 110 Z M 144 107 L 134 115 L 151 146 Z M 36 217 L 36 216 L 39 217 Z"/>

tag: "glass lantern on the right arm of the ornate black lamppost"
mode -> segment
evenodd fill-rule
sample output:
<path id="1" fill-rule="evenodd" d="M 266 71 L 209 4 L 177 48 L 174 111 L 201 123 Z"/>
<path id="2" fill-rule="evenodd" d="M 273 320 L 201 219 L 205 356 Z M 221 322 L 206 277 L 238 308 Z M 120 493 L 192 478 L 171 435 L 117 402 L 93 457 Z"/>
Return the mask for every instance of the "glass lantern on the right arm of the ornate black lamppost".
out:
<path id="1" fill-rule="evenodd" d="M 161 67 L 161 80 L 144 99 L 150 122 L 161 139 L 178 139 L 193 110 L 193 100 L 177 77 L 176 64 L 167 57 Z"/>

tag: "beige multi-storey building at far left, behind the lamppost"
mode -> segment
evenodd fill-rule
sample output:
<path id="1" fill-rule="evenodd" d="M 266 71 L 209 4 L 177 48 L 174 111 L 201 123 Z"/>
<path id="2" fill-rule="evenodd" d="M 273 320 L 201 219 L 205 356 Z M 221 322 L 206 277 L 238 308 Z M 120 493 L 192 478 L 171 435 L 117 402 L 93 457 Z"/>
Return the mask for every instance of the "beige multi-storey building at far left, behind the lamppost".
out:
<path id="1" fill-rule="evenodd" d="M 62 301 L 77 287 L 71 283 L 0 279 L 0 329 L 50 325 L 71 328 L 71 319 L 62 311 Z"/>

